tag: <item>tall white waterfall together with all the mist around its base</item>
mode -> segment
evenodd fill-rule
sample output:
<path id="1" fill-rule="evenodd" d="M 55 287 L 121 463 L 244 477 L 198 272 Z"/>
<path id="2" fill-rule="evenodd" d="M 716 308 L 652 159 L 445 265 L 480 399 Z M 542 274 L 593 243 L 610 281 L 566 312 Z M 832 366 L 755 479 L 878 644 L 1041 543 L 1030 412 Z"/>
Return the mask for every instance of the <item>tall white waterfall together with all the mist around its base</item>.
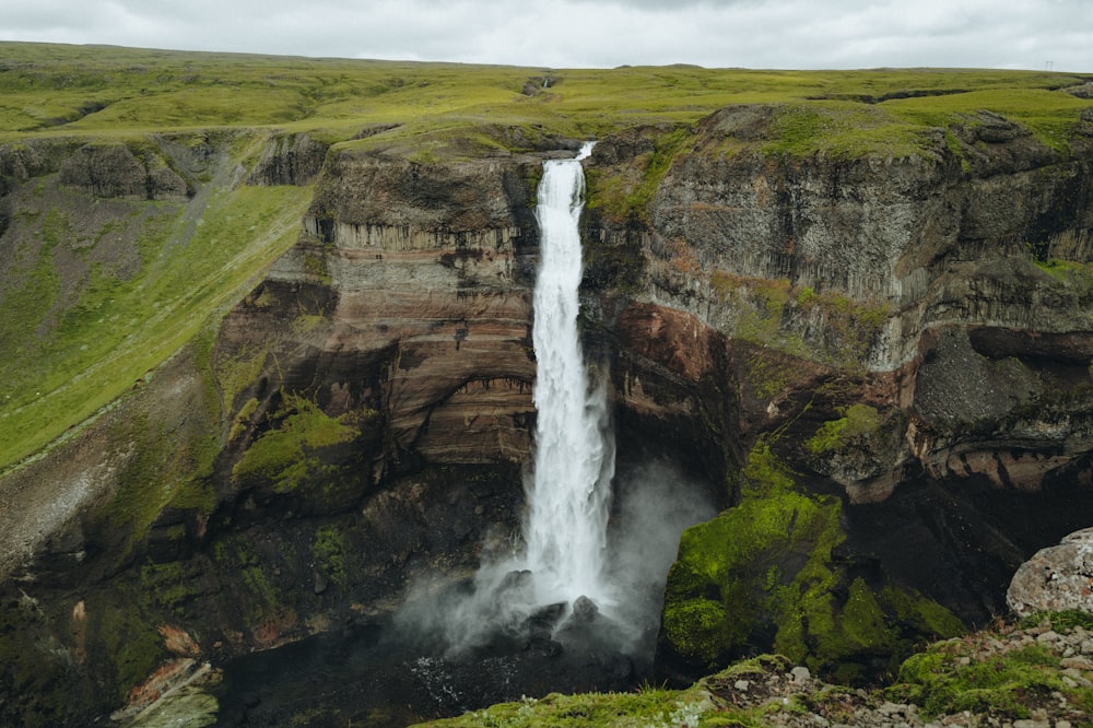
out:
<path id="1" fill-rule="evenodd" d="M 444 659 L 493 659 L 510 650 L 520 662 L 555 664 L 561 648 L 578 672 L 614 684 L 619 662 L 604 655 L 625 655 L 643 669 L 651 665 L 680 533 L 717 510 L 671 468 L 655 462 L 640 470 L 630 463 L 625 482 L 612 482 L 607 376 L 589 373 L 577 336 L 580 162 L 590 152 L 591 143 L 576 158 L 545 162 L 539 184 L 532 330 L 538 414 L 522 543 L 486 535 L 473 583 L 437 588 L 424 579 L 396 625 L 401 639 L 443 647 Z M 609 533 L 613 489 L 620 502 Z"/>

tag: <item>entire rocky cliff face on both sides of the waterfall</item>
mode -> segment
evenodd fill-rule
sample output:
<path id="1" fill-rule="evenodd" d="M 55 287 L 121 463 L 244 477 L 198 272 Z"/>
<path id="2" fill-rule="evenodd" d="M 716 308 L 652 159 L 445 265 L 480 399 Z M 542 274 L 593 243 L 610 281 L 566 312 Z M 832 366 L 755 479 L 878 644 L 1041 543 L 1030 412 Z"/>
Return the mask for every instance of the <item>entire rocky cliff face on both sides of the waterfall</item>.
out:
<path id="1" fill-rule="evenodd" d="M 1093 119 L 1067 153 L 982 115 L 922 156 L 802 158 L 754 146 L 776 113 L 624 132 L 586 163 L 584 340 L 620 470 L 670 460 L 736 506 L 684 538 L 667 676 L 772 648 L 886 669 L 1001 612 L 1020 562 L 1093 505 Z M 128 151 L 0 160 L 89 195 L 200 198 L 199 176 Z M 234 169 L 314 181 L 297 242 L 215 333 L 3 481 L 67 506 L 9 566 L 0 684 L 34 697 L 0 715 L 116 707 L 189 656 L 165 631 L 224 660 L 367 622 L 411 578 L 471 574 L 519 520 L 540 156 L 290 136 Z M 35 676 L 70 668 L 83 697 L 58 707 L 67 689 Z"/>

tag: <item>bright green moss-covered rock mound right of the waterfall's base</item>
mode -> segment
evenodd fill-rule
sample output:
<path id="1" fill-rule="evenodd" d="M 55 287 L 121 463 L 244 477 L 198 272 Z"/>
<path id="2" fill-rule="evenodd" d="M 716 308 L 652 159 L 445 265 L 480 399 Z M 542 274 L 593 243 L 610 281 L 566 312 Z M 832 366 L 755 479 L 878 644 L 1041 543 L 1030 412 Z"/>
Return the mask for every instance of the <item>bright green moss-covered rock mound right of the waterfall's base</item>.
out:
<path id="1" fill-rule="evenodd" d="M 668 574 L 661 642 L 696 669 L 754 649 L 755 634 L 841 682 L 894 671 L 917 639 L 963 631 L 944 608 L 892 584 L 849 579 L 832 550 L 846 536 L 842 503 L 798 492 L 771 443 L 752 448 L 741 502 L 683 532 Z"/>

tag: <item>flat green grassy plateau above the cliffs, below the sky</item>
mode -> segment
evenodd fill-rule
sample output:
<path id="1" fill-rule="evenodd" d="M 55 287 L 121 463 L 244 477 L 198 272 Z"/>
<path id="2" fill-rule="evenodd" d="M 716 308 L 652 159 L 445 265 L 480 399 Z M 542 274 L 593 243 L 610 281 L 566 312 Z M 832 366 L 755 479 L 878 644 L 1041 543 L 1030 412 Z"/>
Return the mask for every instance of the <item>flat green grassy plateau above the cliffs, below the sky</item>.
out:
<path id="1" fill-rule="evenodd" d="M 794 150 L 823 146 L 859 128 L 857 149 L 868 151 L 885 146 L 891 132 L 913 138 L 916 129 L 984 108 L 1047 137 L 1090 105 L 1059 93 L 1085 80 L 945 69 L 546 70 L 0 43 L 0 140 L 27 132 L 277 125 L 339 141 L 397 125 L 356 143 L 416 149 L 477 129 L 502 145 L 513 128 L 526 138 L 588 137 L 638 124 L 691 122 L 728 104 L 777 103 L 815 111 L 811 122 L 787 122 Z"/>

